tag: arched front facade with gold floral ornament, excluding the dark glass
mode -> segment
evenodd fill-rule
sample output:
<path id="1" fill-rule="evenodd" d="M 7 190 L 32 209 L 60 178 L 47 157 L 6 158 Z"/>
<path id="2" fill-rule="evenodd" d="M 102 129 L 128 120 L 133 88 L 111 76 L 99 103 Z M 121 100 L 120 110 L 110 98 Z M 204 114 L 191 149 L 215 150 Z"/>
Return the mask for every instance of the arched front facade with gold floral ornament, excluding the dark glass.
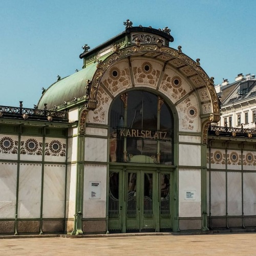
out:
<path id="1" fill-rule="evenodd" d="M 79 123 L 85 146 L 85 191 L 82 202 L 84 223 L 93 225 L 93 219 L 98 218 L 105 220 L 103 222 L 106 230 L 120 232 L 147 228 L 154 231 L 165 228 L 174 231 L 207 229 L 207 130 L 208 125 L 219 118 L 219 104 L 213 84 L 213 79 L 200 67 L 199 60 L 195 62 L 184 55 L 181 49 L 175 50 L 161 44 L 138 44 L 117 49 L 104 61 L 98 61 L 97 70 L 90 81 L 89 100 L 86 108 L 81 111 Z M 161 98 L 174 117 L 173 161 L 170 165 L 154 161 L 148 163 L 146 160 L 129 162 L 127 155 L 119 163 L 110 160 L 112 103 L 125 93 L 136 90 Z M 129 127 L 126 128 L 130 133 Z M 124 137 L 127 137 L 127 131 L 126 136 L 123 134 Z M 97 183 L 101 184 L 101 189 L 105 189 L 103 197 L 98 201 L 90 199 L 86 191 L 89 180 L 96 173 L 99 174 Z M 116 179 L 116 174 L 120 190 L 118 197 L 123 199 L 118 201 L 118 214 L 112 218 L 110 183 L 114 179 L 111 180 L 110 177 L 115 176 Z M 137 194 L 141 201 L 137 202 L 136 217 L 132 216 L 134 219 L 128 214 L 131 207 L 128 203 L 129 180 L 133 175 L 140 182 L 140 187 L 137 184 Z M 161 175 L 171 177 L 168 221 L 161 218 L 161 212 L 157 210 L 161 205 L 157 203 L 152 206 L 154 217 L 148 217 L 148 220 L 145 218 L 145 209 L 141 210 L 142 213 L 138 210 L 145 207 L 142 202 L 144 199 L 141 199 L 145 195 L 139 191 L 145 191 L 145 184 L 148 182 L 145 175 L 152 175 L 154 180 L 155 201 L 161 201 L 158 196 L 161 193 Z"/>

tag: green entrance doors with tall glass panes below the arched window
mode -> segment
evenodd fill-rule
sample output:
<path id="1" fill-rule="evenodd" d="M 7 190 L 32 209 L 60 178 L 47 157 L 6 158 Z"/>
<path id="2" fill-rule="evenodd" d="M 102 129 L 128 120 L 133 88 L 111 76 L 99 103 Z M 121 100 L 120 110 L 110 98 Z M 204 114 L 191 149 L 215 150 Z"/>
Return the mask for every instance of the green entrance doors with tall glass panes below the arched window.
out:
<path id="1" fill-rule="evenodd" d="M 109 231 L 171 230 L 171 174 L 156 169 L 111 168 Z"/>

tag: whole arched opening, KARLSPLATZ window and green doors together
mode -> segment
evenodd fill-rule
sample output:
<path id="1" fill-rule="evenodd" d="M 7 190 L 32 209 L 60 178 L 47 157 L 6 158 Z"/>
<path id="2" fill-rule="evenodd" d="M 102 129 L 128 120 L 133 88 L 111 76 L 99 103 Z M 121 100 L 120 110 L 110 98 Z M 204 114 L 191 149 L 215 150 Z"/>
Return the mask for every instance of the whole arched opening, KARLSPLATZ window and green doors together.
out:
<path id="1" fill-rule="evenodd" d="M 172 230 L 174 118 L 159 96 L 127 91 L 110 108 L 108 230 Z"/>

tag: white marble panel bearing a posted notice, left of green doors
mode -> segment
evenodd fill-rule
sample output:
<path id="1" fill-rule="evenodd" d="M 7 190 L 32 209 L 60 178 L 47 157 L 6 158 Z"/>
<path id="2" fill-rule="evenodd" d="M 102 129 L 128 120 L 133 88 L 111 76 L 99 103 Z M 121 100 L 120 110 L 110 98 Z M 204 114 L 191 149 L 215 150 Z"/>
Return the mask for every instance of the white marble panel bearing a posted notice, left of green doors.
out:
<path id="1" fill-rule="evenodd" d="M 105 218 L 106 216 L 106 165 L 86 164 L 84 166 L 83 217 Z M 100 182 L 100 199 L 90 199 L 90 182 Z"/>

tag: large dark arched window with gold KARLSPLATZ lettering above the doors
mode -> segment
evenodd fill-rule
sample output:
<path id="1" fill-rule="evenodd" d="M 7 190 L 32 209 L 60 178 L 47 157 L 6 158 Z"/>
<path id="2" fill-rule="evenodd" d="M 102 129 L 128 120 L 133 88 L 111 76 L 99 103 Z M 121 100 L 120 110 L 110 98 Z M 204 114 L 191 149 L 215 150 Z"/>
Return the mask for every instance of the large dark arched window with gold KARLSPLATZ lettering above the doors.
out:
<path id="1" fill-rule="evenodd" d="M 110 113 L 110 162 L 173 164 L 173 116 L 160 96 L 129 91 Z"/>

